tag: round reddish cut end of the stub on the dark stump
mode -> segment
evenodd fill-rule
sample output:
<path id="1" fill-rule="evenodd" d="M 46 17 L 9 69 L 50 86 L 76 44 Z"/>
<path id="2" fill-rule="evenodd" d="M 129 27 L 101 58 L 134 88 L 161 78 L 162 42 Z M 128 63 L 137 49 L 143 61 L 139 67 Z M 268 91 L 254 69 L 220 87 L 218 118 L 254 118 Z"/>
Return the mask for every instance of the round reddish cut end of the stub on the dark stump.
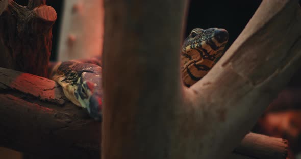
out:
<path id="1" fill-rule="evenodd" d="M 35 8 L 33 12 L 38 18 L 44 21 L 55 22 L 57 20 L 57 12 L 51 6 L 40 6 Z"/>

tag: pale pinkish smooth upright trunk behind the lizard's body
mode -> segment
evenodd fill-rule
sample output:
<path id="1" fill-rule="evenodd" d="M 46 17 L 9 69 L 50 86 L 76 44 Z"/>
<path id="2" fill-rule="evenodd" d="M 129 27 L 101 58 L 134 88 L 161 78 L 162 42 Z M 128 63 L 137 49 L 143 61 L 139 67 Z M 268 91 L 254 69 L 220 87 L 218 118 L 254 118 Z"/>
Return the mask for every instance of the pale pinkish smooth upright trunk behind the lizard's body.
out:
<path id="1" fill-rule="evenodd" d="M 91 58 L 102 54 L 103 0 L 64 2 L 58 60 Z"/>

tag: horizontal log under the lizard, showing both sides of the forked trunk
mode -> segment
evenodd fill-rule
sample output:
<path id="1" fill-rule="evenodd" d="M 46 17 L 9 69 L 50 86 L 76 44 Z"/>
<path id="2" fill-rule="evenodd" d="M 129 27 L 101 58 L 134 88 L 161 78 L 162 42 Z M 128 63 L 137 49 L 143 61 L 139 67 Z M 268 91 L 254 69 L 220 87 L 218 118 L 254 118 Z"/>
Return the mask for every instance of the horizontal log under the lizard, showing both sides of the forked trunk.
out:
<path id="1" fill-rule="evenodd" d="M 99 158 L 101 123 L 68 101 L 61 106 L 62 89 L 54 81 L 0 68 L 0 92 L 1 146 L 43 157 Z M 229 159 L 282 158 L 286 148 L 282 139 L 250 133 Z"/>

